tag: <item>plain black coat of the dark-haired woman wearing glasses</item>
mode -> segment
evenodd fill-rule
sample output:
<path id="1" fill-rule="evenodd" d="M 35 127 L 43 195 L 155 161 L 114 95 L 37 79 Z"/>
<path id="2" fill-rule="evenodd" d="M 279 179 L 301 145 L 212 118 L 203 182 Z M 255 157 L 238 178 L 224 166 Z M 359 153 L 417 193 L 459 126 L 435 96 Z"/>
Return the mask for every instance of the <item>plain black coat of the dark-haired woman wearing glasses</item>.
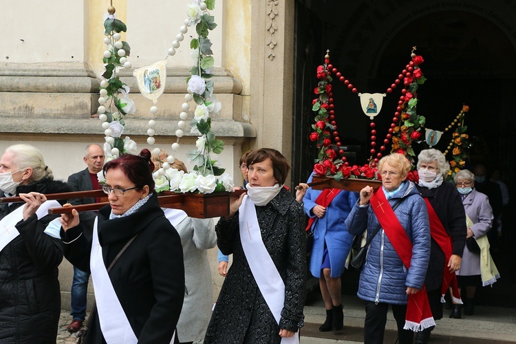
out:
<path id="1" fill-rule="evenodd" d="M 164 217 L 155 193 L 132 215 L 109 219 L 110 213 L 110 206 L 98 211 L 98 237 L 106 267 L 139 233 L 109 272 L 120 304 L 138 343 L 169 343 L 184 298 L 183 252 L 178 232 Z M 82 231 L 82 225 L 66 233 L 61 228 L 61 237 L 65 257 L 80 270 L 90 272 L 92 241 L 80 235 Z M 85 343 L 106 343 L 96 310 L 91 318 Z"/>

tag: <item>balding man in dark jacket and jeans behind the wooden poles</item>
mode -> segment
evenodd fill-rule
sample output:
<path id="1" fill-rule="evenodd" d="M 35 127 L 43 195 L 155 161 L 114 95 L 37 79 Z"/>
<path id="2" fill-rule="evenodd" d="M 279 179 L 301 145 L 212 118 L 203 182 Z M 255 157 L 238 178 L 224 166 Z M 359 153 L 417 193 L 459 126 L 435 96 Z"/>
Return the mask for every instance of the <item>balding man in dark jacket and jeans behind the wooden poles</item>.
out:
<path id="1" fill-rule="evenodd" d="M 97 173 L 102 171 L 104 158 L 104 149 L 98 144 L 89 144 L 86 147 L 83 160 L 88 165 L 87 168 L 68 177 L 68 185 L 72 191 L 100 190 Z M 94 197 L 87 197 L 71 200 L 70 203 L 73 205 L 92 204 L 97 201 Z M 96 213 L 92 212 L 91 215 L 94 218 Z M 79 270 L 74 266 L 74 280 L 70 292 L 72 323 L 66 327 L 69 332 L 77 332 L 86 317 L 88 280 L 89 272 Z"/>

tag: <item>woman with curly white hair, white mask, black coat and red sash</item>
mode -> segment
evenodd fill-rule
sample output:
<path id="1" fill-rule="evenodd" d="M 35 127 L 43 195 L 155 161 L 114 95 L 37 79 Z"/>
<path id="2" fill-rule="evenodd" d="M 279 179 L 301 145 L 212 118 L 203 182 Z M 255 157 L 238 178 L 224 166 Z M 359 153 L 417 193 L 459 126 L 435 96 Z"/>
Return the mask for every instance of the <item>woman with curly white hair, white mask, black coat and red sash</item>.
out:
<path id="1" fill-rule="evenodd" d="M 442 319 L 441 297 L 448 286 L 455 286 L 459 302 L 455 272 L 460 268 L 466 243 L 466 215 L 460 195 L 453 184 L 444 182 L 450 165 L 437 149 L 425 149 L 418 155 L 419 182 L 417 188 L 427 202 L 430 219 L 430 262 L 424 285 L 434 320 Z M 457 308 L 459 305 L 457 305 Z M 460 312 L 460 308 L 459 312 Z M 433 327 L 418 332 L 416 343 L 427 343 Z"/>

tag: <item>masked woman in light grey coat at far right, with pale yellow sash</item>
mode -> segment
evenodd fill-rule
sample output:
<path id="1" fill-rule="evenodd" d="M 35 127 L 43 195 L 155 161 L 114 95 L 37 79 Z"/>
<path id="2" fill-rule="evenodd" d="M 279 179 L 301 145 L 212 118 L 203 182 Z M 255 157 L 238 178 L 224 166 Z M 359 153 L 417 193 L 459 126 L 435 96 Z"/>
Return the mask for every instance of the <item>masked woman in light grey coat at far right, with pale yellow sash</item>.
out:
<path id="1" fill-rule="evenodd" d="M 489 199 L 483 193 L 475 190 L 475 175 L 471 171 L 461 170 L 455 173 L 453 181 L 460 193 L 464 211 L 466 211 L 466 225 L 468 227 L 466 239 L 473 237 L 478 240 L 484 237 L 493 225 L 493 209 L 489 204 Z M 480 252 L 471 252 L 466 246 L 462 253 L 460 270 L 456 272 L 459 288 L 466 290 L 463 299 L 464 314 L 466 315 L 473 315 L 475 292 L 478 286 L 482 286 L 480 259 Z M 460 305 L 456 305 L 455 302 L 450 317 L 460 318 Z"/>

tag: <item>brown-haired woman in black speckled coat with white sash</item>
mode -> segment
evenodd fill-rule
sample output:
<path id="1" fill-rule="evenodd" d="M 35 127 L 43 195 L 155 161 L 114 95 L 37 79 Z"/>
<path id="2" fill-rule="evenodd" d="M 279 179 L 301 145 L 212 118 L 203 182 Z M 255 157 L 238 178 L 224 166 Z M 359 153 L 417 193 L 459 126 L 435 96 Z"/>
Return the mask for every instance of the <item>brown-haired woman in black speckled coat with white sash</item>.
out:
<path id="1" fill-rule="evenodd" d="M 275 149 L 248 156 L 247 195 L 215 227 L 233 264 L 204 343 L 299 343 L 305 301 L 301 205 L 283 188 L 290 166 Z"/>

